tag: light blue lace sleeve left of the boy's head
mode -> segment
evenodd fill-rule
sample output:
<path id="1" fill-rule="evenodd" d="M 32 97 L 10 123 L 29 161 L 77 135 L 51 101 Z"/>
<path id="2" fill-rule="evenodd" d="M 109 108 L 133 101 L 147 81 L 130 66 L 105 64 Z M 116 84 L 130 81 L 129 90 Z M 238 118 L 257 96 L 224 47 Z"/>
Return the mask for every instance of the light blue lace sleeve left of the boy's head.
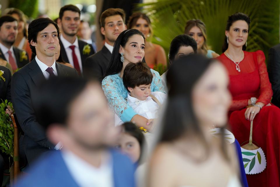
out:
<path id="1" fill-rule="evenodd" d="M 118 75 L 109 75 L 102 81 L 102 89 L 109 106 L 123 122 L 130 121 L 136 113 L 125 100 L 127 91 Z"/>

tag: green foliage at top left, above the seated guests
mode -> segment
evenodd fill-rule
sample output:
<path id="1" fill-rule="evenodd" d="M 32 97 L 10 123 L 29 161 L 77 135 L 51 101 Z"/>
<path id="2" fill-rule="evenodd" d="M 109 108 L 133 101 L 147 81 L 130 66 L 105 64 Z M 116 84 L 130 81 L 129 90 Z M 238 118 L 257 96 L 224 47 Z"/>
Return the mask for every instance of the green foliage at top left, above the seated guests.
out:
<path id="1" fill-rule="evenodd" d="M 38 0 L 9 0 L 9 7 L 20 9 L 25 15 L 37 18 Z"/>

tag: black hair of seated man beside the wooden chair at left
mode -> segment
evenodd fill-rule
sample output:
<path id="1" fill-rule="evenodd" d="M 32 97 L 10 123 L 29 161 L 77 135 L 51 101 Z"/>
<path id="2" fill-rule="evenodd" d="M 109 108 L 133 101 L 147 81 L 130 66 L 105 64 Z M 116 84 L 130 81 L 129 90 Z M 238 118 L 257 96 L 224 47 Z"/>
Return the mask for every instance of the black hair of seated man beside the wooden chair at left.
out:
<path id="1" fill-rule="evenodd" d="M 48 25 L 53 24 L 57 30 L 57 37 L 59 37 L 59 28 L 53 20 L 50 18 L 38 18 L 33 20 L 28 26 L 28 41 L 31 51 L 36 54 L 36 50 L 34 46 L 31 46 L 30 42 L 33 40 L 37 42 L 38 32 L 44 30 Z"/>

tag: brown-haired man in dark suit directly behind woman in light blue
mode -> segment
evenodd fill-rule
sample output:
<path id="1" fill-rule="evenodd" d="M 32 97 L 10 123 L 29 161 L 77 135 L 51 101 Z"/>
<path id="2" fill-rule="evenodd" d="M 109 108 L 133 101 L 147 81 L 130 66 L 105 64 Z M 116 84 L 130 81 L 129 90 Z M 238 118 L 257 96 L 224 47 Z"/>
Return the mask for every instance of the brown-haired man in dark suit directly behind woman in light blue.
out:
<path id="1" fill-rule="evenodd" d="M 119 34 L 126 30 L 125 12 L 120 8 L 109 8 L 100 16 L 100 31 L 105 37 L 101 51 L 88 57 L 83 64 L 86 78 L 97 78 L 102 81 L 112 56 L 114 43 Z"/>

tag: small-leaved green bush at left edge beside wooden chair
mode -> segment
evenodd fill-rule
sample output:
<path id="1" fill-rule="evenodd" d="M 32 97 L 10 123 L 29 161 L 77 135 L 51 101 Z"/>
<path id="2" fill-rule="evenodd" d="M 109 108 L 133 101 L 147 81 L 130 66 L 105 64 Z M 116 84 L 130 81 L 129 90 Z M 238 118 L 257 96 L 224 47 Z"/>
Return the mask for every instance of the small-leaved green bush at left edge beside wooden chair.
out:
<path id="1" fill-rule="evenodd" d="M 10 116 L 6 114 L 6 106 L 10 106 L 13 110 L 12 103 L 8 103 L 7 100 L 0 104 L 0 150 L 11 157 L 14 157 L 14 127 Z"/>

